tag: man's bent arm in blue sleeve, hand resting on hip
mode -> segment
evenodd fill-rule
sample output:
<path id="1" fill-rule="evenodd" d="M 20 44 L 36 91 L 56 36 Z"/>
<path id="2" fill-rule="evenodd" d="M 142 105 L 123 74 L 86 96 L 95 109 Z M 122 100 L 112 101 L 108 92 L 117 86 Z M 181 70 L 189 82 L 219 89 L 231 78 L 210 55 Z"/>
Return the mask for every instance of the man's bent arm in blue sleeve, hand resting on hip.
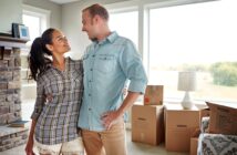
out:
<path id="1" fill-rule="evenodd" d="M 106 112 L 102 115 L 103 125 L 106 130 L 110 130 L 123 116 L 140 94 L 144 94 L 147 84 L 142 60 L 132 41 L 126 40 L 124 42 L 124 51 L 121 52 L 118 62 L 126 79 L 130 80 L 128 94 L 116 111 Z"/>

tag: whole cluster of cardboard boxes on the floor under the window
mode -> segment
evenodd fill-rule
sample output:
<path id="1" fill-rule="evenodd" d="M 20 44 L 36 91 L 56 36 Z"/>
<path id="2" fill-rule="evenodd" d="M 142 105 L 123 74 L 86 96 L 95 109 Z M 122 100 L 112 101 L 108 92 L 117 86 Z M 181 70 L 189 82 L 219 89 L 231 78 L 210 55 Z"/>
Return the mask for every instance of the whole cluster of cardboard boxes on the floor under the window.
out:
<path id="1" fill-rule="evenodd" d="M 181 104 L 163 105 L 163 85 L 147 85 L 142 105 L 132 107 L 132 141 L 158 145 L 165 141 L 171 152 L 194 152 L 197 137 L 192 134 L 199 128 L 200 115 L 206 113 L 194 107 L 184 110 Z M 192 143 L 192 144 L 190 144 Z"/>

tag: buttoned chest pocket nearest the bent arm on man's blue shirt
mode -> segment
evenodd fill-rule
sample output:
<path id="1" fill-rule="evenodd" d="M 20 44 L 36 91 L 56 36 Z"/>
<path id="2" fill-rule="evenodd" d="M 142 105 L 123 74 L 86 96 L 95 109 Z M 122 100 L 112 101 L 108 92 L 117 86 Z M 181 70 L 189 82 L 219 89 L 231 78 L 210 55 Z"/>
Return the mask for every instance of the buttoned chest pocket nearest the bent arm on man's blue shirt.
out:
<path id="1" fill-rule="evenodd" d="M 103 72 L 103 73 L 109 73 L 112 70 L 114 70 L 115 65 L 115 56 L 111 54 L 99 54 L 95 58 L 94 62 L 94 69 Z"/>

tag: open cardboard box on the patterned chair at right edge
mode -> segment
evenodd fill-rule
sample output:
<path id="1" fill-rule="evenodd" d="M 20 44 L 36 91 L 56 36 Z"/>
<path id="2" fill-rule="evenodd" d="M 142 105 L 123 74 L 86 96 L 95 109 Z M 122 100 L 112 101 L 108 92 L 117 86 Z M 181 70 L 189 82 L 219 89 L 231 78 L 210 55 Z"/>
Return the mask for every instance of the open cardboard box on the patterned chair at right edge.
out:
<path id="1" fill-rule="evenodd" d="M 237 135 L 237 107 L 207 102 L 210 108 L 209 133 Z"/>

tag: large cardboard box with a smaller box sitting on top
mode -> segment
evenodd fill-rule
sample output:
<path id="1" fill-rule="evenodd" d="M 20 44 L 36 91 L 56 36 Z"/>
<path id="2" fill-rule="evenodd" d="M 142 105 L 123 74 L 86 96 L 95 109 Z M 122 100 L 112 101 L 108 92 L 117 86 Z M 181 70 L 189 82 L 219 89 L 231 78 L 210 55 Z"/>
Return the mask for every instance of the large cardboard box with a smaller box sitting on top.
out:
<path id="1" fill-rule="evenodd" d="M 132 141 L 157 145 L 164 140 L 164 106 L 133 105 Z"/>

